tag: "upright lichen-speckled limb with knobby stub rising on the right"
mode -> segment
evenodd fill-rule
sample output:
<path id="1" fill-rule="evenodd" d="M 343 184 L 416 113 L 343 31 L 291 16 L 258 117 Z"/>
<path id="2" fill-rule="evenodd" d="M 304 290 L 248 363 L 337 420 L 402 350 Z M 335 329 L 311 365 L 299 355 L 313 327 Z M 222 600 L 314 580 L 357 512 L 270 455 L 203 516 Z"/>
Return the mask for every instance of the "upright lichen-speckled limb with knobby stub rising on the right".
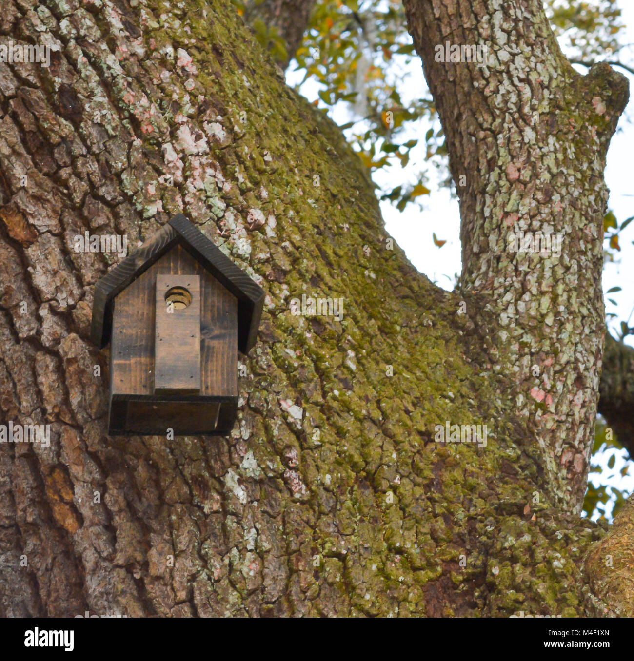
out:
<path id="1" fill-rule="evenodd" d="M 605 311 L 606 151 L 629 97 L 561 53 L 541 0 L 405 0 L 460 196 L 465 293 L 477 293 L 494 372 L 532 429 L 551 496 L 580 512 L 594 438 Z M 436 44 L 484 44 L 483 66 Z M 461 175 L 464 176 L 460 185 Z M 511 233 L 562 235 L 561 255 L 512 252 Z"/>

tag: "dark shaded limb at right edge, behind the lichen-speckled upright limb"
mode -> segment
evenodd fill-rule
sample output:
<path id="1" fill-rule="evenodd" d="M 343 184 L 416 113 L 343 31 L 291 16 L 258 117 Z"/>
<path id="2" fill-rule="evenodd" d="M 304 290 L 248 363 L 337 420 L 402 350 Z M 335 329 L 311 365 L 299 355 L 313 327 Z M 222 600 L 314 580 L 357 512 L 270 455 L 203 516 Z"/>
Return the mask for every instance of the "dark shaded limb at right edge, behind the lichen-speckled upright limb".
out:
<path id="1" fill-rule="evenodd" d="M 634 457 L 634 349 L 606 332 L 599 412 Z"/>

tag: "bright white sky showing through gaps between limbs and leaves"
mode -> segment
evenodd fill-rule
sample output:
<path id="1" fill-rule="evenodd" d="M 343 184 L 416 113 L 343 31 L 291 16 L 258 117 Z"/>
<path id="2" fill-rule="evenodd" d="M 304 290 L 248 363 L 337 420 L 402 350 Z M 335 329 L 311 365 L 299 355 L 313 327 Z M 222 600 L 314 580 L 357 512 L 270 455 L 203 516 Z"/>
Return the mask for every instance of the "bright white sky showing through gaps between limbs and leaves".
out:
<path id="1" fill-rule="evenodd" d="M 619 0 L 622 17 L 621 22 L 625 24 L 625 30 L 621 33 L 621 44 L 631 44 L 619 54 L 619 59 L 630 67 L 634 65 L 634 3 L 628 0 Z M 611 58 L 606 58 L 611 59 Z M 293 68 L 293 65 L 289 67 Z M 575 68 L 582 74 L 587 73 L 588 69 L 580 65 Z M 619 225 L 629 216 L 634 215 L 634 185 L 632 166 L 632 145 L 634 144 L 634 76 L 627 73 L 624 69 L 617 69 L 624 75 L 627 75 L 630 81 L 630 92 L 632 99 L 625 110 L 625 114 L 619 122 L 620 133 L 615 134 L 612 139 L 612 145 L 608 151 L 608 160 L 606 167 L 606 183 L 610 188 L 610 200 L 608 205 L 614 211 Z M 407 90 L 408 97 L 403 95 L 403 101 L 414 98 L 423 98 L 428 96 L 427 85 L 422 75 L 422 66 L 418 58 L 413 59 L 413 63 L 404 72 L 406 82 L 402 85 Z M 288 71 L 286 79 L 290 85 L 295 85 L 301 81 L 303 72 L 294 73 Z M 301 93 L 309 100 L 317 99 L 319 85 L 312 80 L 306 81 L 301 87 Z M 320 106 L 325 107 L 319 101 Z M 329 114 L 337 124 L 345 124 L 352 120 L 347 104 L 337 104 L 329 109 Z M 358 130 L 358 127 L 356 127 Z M 419 144 L 411 151 L 411 163 L 406 168 L 395 165 L 387 171 L 381 171 L 374 175 L 374 179 L 384 185 L 387 190 L 395 188 L 406 182 L 415 183 L 418 169 L 426 169 L 429 175 L 427 187 L 431 193 L 424 198 L 424 210 L 418 206 L 408 204 L 403 212 L 399 212 L 391 202 L 381 202 L 381 211 L 385 220 L 385 228 L 394 237 L 397 243 L 407 254 L 409 260 L 422 273 L 426 274 L 432 282 L 446 290 L 452 290 L 455 284 L 455 275 L 461 270 L 460 258 L 460 216 L 457 199 L 452 199 L 450 190 L 440 186 L 440 176 L 434 167 L 426 167 L 420 159 L 423 158 L 425 142 L 424 133 L 430 128 L 428 123 L 421 123 L 416 128 L 409 129 L 409 132 L 399 134 L 399 142 L 403 143 L 408 139 L 418 138 Z M 440 124 L 436 122 L 436 129 Z M 418 150 L 418 151 L 417 151 Z M 418 155 L 418 163 L 417 161 Z M 444 239 L 442 248 L 436 247 L 432 240 L 432 233 L 436 233 L 438 239 Z M 614 312 L 617 317 L 614 321 L 608 321 L 608 327 L 612 335 L 616 336 L 620 321 L 627 321 L 629 325 L 634 325 L 634 221 L 628 225 L 619 237 L 621 253 L 616 256 L 614 263 L 607 263 L 603 272 L 603 290 L 606 299 L 606 313 Z M 608 290 L 613 287 L 621 287 L 620 292 L 608 294 Z M 608 301 L 613 299 L 616 305 Z M 630 318 L 631 315 L 631 318 Z M 627 344 L 634 346 L 633 336 L 626 340 Z M 612 469 L 608 469 L 608 459 L 615 453 L 616 461 Z M 634 490 L 634 463 L 627 461 L 627 452 L 615 451 L 609 449 L 600 453 L 596 457 L 598 463 L 603 467 L 604 472 L 600 476 L 600 483 L 615 486 L 629 493 Z M 623 467 L 629 465 L 629 474 L 621 477 L 620 471 Z M 598 481 L 593 480 L 598 484 Z M 608 514 L 612 506 L 608 503 Z"/>

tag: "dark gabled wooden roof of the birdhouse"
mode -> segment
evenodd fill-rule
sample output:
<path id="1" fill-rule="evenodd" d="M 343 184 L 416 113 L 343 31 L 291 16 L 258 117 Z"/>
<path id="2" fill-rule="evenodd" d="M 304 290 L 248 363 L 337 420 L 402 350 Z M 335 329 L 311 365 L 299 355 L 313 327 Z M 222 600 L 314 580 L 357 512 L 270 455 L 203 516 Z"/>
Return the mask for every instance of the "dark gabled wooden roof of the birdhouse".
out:
<path id="1" fill-rule="evenodd" d="M 238 348 L 246 354 L 255 344 L 264 290 L 182 214 L 175 215 L 138 251 L 128 255 L 97 282 L 91 340 L 100 348 L 108 344 L 114 297 L 176 245 L 181 245 L 237 298 Z"/>

